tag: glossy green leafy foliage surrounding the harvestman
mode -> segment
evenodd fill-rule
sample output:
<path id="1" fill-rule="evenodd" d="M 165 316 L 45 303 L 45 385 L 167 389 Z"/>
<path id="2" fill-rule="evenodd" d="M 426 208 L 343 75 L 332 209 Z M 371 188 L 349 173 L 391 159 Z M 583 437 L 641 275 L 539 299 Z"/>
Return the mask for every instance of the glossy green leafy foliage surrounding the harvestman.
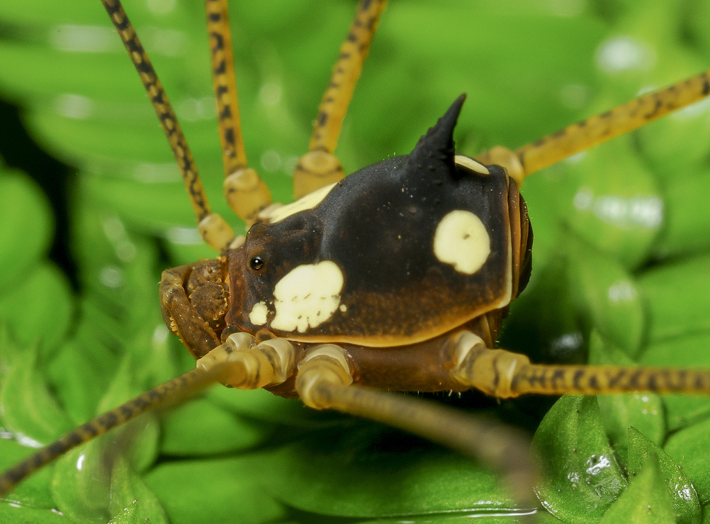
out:
<path id="1" fill-rule="evenodd" d="M 213 207 L 241 229 L 221 195 L 202 4 L 131 1 L 126 11 Z M 290 166 L 353 11 L 350 1 L 231 6 L 246 149 L 275 200 L 291 200 Z M 708 28 L 704 1 L 393 1 L 337 153 L 348 172 L 407 153 L 461 92 L 459 151 L 515 148 L 704 70 Z M 3 109 L 0 151 L 33 171 L 0 171 L 8 465 L 29 451 L 18 441 L 49 442 L 192 365 L 162 326 L 157 283 L 161 269 L 213 253 L 98 0 L 4 0 L 0 94 L 71 166 L 26 148 Z M 709 153 L 709 108 L 698 104 L 526 180 L 534 272 L 501 346 L 536 361 L 710 367 Z M 434 396 L 531 431 L 554 400 Z M 543 506 L 565 522 L 707 520 L 709 413 L 706 398 L 680 395 L 559 400 L 535 436 Z M 493 472 L 263 391 L 214 388 L 146 419 L 34 476 L 0 502 L 1 520 L 518 519 L 500 516 L 511 502 Z"/>

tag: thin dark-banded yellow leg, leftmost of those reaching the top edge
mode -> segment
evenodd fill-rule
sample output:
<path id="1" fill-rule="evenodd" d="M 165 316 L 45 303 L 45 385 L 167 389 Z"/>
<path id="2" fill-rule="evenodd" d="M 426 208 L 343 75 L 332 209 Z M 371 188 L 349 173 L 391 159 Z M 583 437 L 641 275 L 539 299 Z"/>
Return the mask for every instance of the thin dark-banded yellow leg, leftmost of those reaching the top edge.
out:
<path id="1" fill-rule="evenodd" d="M 168 96 L 163 90 L 163 84 L 160 84 L 151 60 L 148 59 L 146 50 L 143 49 L 143 44 L 138 39 L 136 30 L 131 25 L 128 16 L 126 16 L 121 2 L 119 0 L 102 0 L 102 4 L 104 4 L 111 21 L 116 27 L 116 31 L 118 31 L 121 40 L 126 46 L 131 62 L 136 67 L 138 76 L 141 77 L 141 82 L 143 82 L 143 87 L 146 88 L 148 97 L 151 99 L 155 114 L 158 115 L 160 126 L 163 127 L 163 132 L 168 138 L 175 160 L 178 161 L 178 168 L 180 168 L 182 180 L 185 182 L 187 196 L 190 197 L 192 209 L 195 211 L 195 217 L 197 217 L 200 234 L 202 234 L 202 238 L 209 246 L 212 246 L 217 251 L 224 251 L 234 240 L 234 232 L 219 214 L 212 213 L 209 208 L 207 195 L 200 180 L 200 173 L 197 172 L 195 160 L 192 158 L 190 148 L 187 146 L 187 141 L 185 141 L 185 135 L 180 129 L 180 124 L 178 124 L 178 117 L 175 116 L 175 111 L 173 111 Z"/>

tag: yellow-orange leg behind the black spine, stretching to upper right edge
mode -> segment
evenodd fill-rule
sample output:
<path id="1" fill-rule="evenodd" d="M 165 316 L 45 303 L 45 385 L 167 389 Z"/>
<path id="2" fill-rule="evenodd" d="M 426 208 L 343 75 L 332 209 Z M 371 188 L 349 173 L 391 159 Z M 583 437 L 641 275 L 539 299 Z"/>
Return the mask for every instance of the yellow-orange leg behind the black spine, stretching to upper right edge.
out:
<path id="1" fill-rule="evenodd" d="M 535 171 L 645 126 L 671 111 L 698 102 L 708 94 L 710 71 L 591 116 L 515 151 L 496 146 L 476 156 L 476 160 L 503 165 L 520 185 Z"/>

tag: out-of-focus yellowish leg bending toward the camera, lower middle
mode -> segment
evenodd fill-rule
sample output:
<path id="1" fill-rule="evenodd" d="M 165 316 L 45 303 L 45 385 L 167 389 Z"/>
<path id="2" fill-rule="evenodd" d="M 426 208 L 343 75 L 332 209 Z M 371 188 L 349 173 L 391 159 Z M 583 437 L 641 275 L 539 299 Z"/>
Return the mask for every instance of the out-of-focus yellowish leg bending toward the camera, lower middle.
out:
<path id="1" fill-rule="evenodd" d="M 344 351 L 324 344 L 298 364 L 296 390 L 311 408 L 334 409 L 398 427 L 487 464 L 501 471 L 521 508 L 537 505 L 530 440 L 519 430 L 427 400 L 354 386 L 352 380 Z"/>

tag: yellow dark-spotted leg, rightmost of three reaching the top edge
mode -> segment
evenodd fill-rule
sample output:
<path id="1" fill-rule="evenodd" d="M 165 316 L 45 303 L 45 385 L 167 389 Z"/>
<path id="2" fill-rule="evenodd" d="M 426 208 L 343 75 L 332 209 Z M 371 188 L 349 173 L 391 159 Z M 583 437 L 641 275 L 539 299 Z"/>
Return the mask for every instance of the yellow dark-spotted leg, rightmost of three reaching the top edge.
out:
<path id="1" fill-rule="evenodd" d="M 297 199 L 344 177 L 343 166 L 333 152 L 386 4 L 387 0 L 361 0 L 357 7 L 313 123 L 309 152 L 298 160 L 293 173 Z"/>

